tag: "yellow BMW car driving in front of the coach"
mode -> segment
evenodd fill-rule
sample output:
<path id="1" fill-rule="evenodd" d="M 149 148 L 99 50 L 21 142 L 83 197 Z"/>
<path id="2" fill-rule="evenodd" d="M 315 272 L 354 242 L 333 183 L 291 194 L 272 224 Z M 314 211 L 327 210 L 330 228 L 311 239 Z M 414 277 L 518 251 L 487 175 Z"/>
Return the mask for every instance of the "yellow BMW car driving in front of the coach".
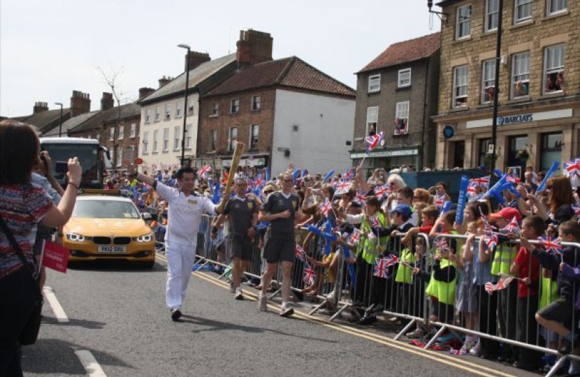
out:
<path id="1" fill-rule="evenodd" d="M 128 198 L 79 196 L 62 233 L 70 261 L 123 259 L 146 267 L 155 264 L 154 233 Z"/>

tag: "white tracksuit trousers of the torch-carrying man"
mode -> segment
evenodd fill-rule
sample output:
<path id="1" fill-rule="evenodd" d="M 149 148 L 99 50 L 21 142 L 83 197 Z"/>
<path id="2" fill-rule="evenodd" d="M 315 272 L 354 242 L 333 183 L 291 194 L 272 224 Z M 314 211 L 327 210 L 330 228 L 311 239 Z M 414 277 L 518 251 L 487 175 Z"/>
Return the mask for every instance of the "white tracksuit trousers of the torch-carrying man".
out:
<path id="1" fill-rule="evenodd" d="M 169 309 L 181 309 L 187 284 L 194 266 L 196 244 L 175 244 L 167 241 L 167 286 L 165 300 Z"/>

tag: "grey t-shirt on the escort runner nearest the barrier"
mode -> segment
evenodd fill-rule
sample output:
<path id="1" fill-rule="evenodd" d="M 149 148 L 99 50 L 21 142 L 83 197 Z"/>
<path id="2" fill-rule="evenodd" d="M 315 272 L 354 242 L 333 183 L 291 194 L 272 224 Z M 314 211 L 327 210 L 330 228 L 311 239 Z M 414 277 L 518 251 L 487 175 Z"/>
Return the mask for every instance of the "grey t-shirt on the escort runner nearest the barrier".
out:
<path id="1" fill-rule="evenodd" d="M 290 211 L 288 219 L 274 219 L 270 221 L 270 230 L 272 238 L 294 239 L 294 214 L 298 211 L 298 202 L 300 197 L 296 194 L 290 194 L 288 198 L 280 191 L 271 193 L 262 205 L 262 211 L 268 214 L 279 214 L 286 210 Z"/>

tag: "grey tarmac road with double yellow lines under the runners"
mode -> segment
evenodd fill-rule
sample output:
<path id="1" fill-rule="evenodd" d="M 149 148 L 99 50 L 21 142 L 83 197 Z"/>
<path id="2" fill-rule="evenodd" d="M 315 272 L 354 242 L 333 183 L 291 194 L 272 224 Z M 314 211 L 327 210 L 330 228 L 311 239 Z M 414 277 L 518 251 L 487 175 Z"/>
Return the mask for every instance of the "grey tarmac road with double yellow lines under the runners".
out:
<path id="1" fill-rule="evenodd" d="M 164 266 L 160 258 L 152 270 L 99 264 L 49 272 L 47 286 L 68 322 L 45 304 L 41 339 L 24 348 L 25 376 L 87 376 L 79 350 L 98 363 L 91 376 L 108 377 L 537 376 L 321 316 L 279 318 L 274 303 L 261 313 L 249 295 L 233 300 L 211 273 L 191 279 L 184 320 L 175 323 L 164 305 Z"/>

